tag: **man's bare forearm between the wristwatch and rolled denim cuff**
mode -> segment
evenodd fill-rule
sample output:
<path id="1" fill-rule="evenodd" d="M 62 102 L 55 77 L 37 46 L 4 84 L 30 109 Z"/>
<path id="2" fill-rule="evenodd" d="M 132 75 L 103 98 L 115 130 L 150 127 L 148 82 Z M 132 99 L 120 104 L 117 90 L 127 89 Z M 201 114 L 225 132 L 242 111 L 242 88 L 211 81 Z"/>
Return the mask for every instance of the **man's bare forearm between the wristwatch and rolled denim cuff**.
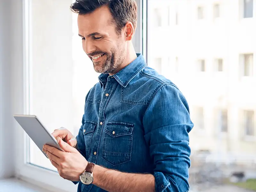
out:
<path id="1" fill-rule="evenodd" d="M 95 165 L 93 178 L 92 184 L 109 192 L 155 192 L 151 174 L 124 173 Z"/>

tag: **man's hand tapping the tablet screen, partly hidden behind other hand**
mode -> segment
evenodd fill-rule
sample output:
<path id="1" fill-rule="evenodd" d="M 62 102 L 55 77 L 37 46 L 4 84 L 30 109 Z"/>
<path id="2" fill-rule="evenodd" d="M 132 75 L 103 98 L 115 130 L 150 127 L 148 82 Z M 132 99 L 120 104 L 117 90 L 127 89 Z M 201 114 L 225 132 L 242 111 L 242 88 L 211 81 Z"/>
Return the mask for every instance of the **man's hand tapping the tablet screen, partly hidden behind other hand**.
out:
<path id="1" fill-rule="evenodd" d="M 76 143 L 77 143 L 76 138 L 66 128 L 61 127 L 60 129 L 55 129 L 52 135 L 53 137 L 55 137 L 58 143 L 60 140 L 64 140 L 71 147 L 76 147 Z"/>

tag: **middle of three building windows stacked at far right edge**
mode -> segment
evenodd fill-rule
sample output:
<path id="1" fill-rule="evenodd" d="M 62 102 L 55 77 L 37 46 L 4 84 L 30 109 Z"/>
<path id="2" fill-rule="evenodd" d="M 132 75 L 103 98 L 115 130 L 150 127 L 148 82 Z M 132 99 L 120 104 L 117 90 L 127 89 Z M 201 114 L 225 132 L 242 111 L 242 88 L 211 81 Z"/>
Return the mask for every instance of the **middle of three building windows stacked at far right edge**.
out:
<path id="1" fill-rule="evenodd" d="M 253 75 L 253 54 L 243 54 L 242 55 L 242 76 L 252 76 Z"/>

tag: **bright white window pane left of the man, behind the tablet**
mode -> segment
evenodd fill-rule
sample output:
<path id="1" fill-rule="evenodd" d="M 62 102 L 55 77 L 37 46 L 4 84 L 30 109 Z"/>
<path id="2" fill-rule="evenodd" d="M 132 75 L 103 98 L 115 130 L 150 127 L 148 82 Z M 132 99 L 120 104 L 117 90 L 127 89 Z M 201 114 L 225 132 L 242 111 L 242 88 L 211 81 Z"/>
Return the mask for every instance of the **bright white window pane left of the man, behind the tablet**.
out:
<path id="1" fill-rule="evenodd" d="M 81 46 L 77 14 L 68 9 L 71 3 L 65 0 L 56 8 L 52 0 L 31 1 L 29 49 L 33 60 L 28 63 L 27 112 L 37 115 L 50 132 L 65 127 L 76 136 L 85 96 L 98 82 L 99 74 Z M 47 14 L 42 14 L 44 10 Z M 35 143 L 29 142 L 28 163 L 57 171 Z"/>

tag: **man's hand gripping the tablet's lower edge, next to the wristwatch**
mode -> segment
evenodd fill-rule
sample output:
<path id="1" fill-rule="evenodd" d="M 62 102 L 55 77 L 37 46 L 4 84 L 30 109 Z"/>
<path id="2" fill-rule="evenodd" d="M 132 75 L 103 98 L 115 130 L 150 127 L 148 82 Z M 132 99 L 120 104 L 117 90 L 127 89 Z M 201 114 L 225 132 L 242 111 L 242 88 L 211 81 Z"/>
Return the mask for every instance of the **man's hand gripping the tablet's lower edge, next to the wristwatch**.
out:
<path id="1" fill-rule="evenodd" d="M 57 168 L 60 176 L 70 181 L 80 181 L 79 175 L 84 172 L 88 161 L 76 148 L 71 147 L 63 140 L 59 140 L 59 145 L 64 151 L 44 145 L 43 151 L 49 157 L 52 165 Z"/>

